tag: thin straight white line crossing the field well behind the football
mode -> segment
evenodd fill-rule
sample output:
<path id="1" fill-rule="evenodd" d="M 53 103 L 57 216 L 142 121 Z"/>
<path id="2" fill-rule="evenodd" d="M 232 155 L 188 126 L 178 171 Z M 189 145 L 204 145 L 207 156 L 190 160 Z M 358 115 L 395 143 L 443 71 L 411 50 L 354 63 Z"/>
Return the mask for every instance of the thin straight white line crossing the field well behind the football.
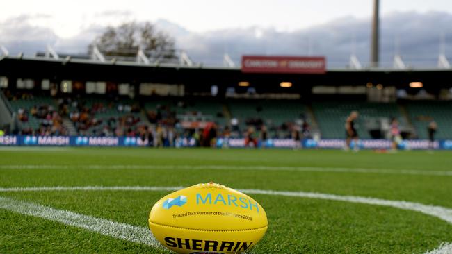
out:
<path id="1" fill-rule="evenodd" d="M 0 169 L 214 169 L 251 171 L 305 171 L 333 173 L 383 173 L 420 176 L 452 176 L 452 171 L 414 169 L 366 169 L 346 167 L 290 167 L 290 166 L 235 166 L 235 165 L 0 165 Z"/>

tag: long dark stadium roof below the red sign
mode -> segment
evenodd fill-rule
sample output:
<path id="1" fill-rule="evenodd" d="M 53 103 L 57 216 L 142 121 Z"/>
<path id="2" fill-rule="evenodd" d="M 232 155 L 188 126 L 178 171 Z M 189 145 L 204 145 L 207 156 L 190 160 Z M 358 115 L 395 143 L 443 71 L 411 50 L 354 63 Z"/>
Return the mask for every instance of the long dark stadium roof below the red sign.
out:
<path id="1" fill-rule="evenodd" d="M 360 86 L 366 83 L 408 87 L 419 81 L 425 88 L 450 88 L 452 69 L 328 69 L 325 74 L 245 74 L 239 67 L 208 67 L 143 62 L 96 61 L 77 58 L 0 58 L 0 76 L 51 80 L 111 81 L 117 83 L 184 84 L 191 90 L 206 90 L 211 85 L 232 87 L 240 81 L 266 92 L 284 90 L 279 84 L 293 83 L 284 92 L 302 92 L 313 86 Z"/>

